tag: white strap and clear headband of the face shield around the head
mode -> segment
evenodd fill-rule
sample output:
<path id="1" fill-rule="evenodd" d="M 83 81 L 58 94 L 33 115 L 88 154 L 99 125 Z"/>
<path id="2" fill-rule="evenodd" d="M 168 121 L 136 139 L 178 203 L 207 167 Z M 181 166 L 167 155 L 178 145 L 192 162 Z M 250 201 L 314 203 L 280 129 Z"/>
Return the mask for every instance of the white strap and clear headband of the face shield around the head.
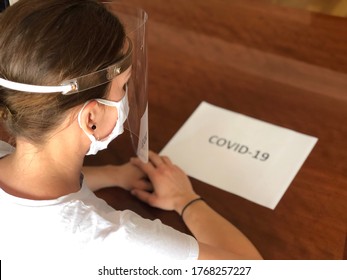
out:
<path id="1" fill-rule="evenodd" d="M 0 78 L 0 86 L 12 90 L 23 91 L 28 93 L 56 93 L 61 92 L 63 95 L 70 95 L 81 92 L 111 81 L 116 76 L 127 70 L 132 64 L 133 46 L 131 40 L 126 37 L 128 42 L 128 50 L 124 57 L 115 64 L 102 70 L 80 76 L 71 80 L 62 82 L 59 86 L 38 86 L 12 82 Z M 91 83 L 91 81 L 93 81 Z"/>

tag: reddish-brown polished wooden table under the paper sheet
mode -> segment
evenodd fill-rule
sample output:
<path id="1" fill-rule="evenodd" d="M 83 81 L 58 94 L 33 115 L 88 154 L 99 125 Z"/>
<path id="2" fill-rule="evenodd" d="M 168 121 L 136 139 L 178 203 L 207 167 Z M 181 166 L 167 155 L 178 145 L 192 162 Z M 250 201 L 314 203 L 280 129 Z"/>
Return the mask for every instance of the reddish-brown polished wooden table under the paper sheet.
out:
<path id="1" fill-rule="evenodd" d="M 318 137 L 275 210 L 192 181 L 265 259 L 346 259 L 347 19 L 261 0 L 127 2 L 149 14 L 150 148 L 160 151 L 203 100 Z M 128 142 L 124 134 L 86 163 L 125 162 Z M 188 232 L 177 214 L 119 188 L 97 195 Z"/>

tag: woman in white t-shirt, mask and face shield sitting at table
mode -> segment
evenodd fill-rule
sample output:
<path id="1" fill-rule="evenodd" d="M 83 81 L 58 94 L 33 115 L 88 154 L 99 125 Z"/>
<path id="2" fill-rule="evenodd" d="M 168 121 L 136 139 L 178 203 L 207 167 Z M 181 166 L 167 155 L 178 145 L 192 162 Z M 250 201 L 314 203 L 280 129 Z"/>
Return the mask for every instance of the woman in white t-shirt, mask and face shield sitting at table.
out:
<path id="1" fill-rule="evenodd" d="M 86 154 L 123 132 L 129 110 L 131 67 L 123 66 L 131 42 L 102 4 L 20 0 L 0 16 L 0 28 L 0 115 L 16 142 L 15 149 L 0 145 L 0 257 L 20 248 L 116 259 L 261 258 L 169 158 L 150 152 L 148 163 L 134 158 L 118 167 L 82 167 Z M 64 84 L 84 75 L 95 84 L 95 73 L 111 68 L 117 73 L 107 83 L 83 91 Z M 55 85 L 64 87 L 63 94 L 35 87 Z M 92 192 L 110 185 L 175 210 L 196 239 L 158 220 L 115 211 Z"/>

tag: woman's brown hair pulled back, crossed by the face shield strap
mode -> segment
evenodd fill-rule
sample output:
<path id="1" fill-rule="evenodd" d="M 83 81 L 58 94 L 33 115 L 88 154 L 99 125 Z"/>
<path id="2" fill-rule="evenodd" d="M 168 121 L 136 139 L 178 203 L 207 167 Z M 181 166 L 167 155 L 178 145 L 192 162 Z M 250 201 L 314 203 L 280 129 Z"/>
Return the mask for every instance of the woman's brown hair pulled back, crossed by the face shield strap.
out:
<path id="1" fill-rule="evenodd" d="M 124 27 L 98 1 L 21 0 L 0 15 L 0 77 L 59 85 L 116 62 L 124 41 Z M 0 87 L 0 118 L 11 136 L 40 144 L 70 109 L 104 98 L 107 88 L 65 96 Z"/>

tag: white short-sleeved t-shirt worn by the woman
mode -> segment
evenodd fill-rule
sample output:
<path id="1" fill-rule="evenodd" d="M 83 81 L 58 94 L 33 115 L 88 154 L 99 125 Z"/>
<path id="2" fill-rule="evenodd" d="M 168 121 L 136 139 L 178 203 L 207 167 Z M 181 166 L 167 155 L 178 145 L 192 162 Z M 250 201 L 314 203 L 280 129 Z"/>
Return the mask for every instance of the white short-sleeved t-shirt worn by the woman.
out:
<path id="1" fill-rule="evenodd" d="M 12 150 L 0 141 L 0 157 Z M 129 210 L 116 211 L 85 183 L 78 192 L 53 200 L 18 198 L 0 186 L 0 259 L 52 253 L 102 254 L 115 260 L 183 260 L 197 259 L 198 244 L 192 236 L 159 220 L 143 219 Z"/>

